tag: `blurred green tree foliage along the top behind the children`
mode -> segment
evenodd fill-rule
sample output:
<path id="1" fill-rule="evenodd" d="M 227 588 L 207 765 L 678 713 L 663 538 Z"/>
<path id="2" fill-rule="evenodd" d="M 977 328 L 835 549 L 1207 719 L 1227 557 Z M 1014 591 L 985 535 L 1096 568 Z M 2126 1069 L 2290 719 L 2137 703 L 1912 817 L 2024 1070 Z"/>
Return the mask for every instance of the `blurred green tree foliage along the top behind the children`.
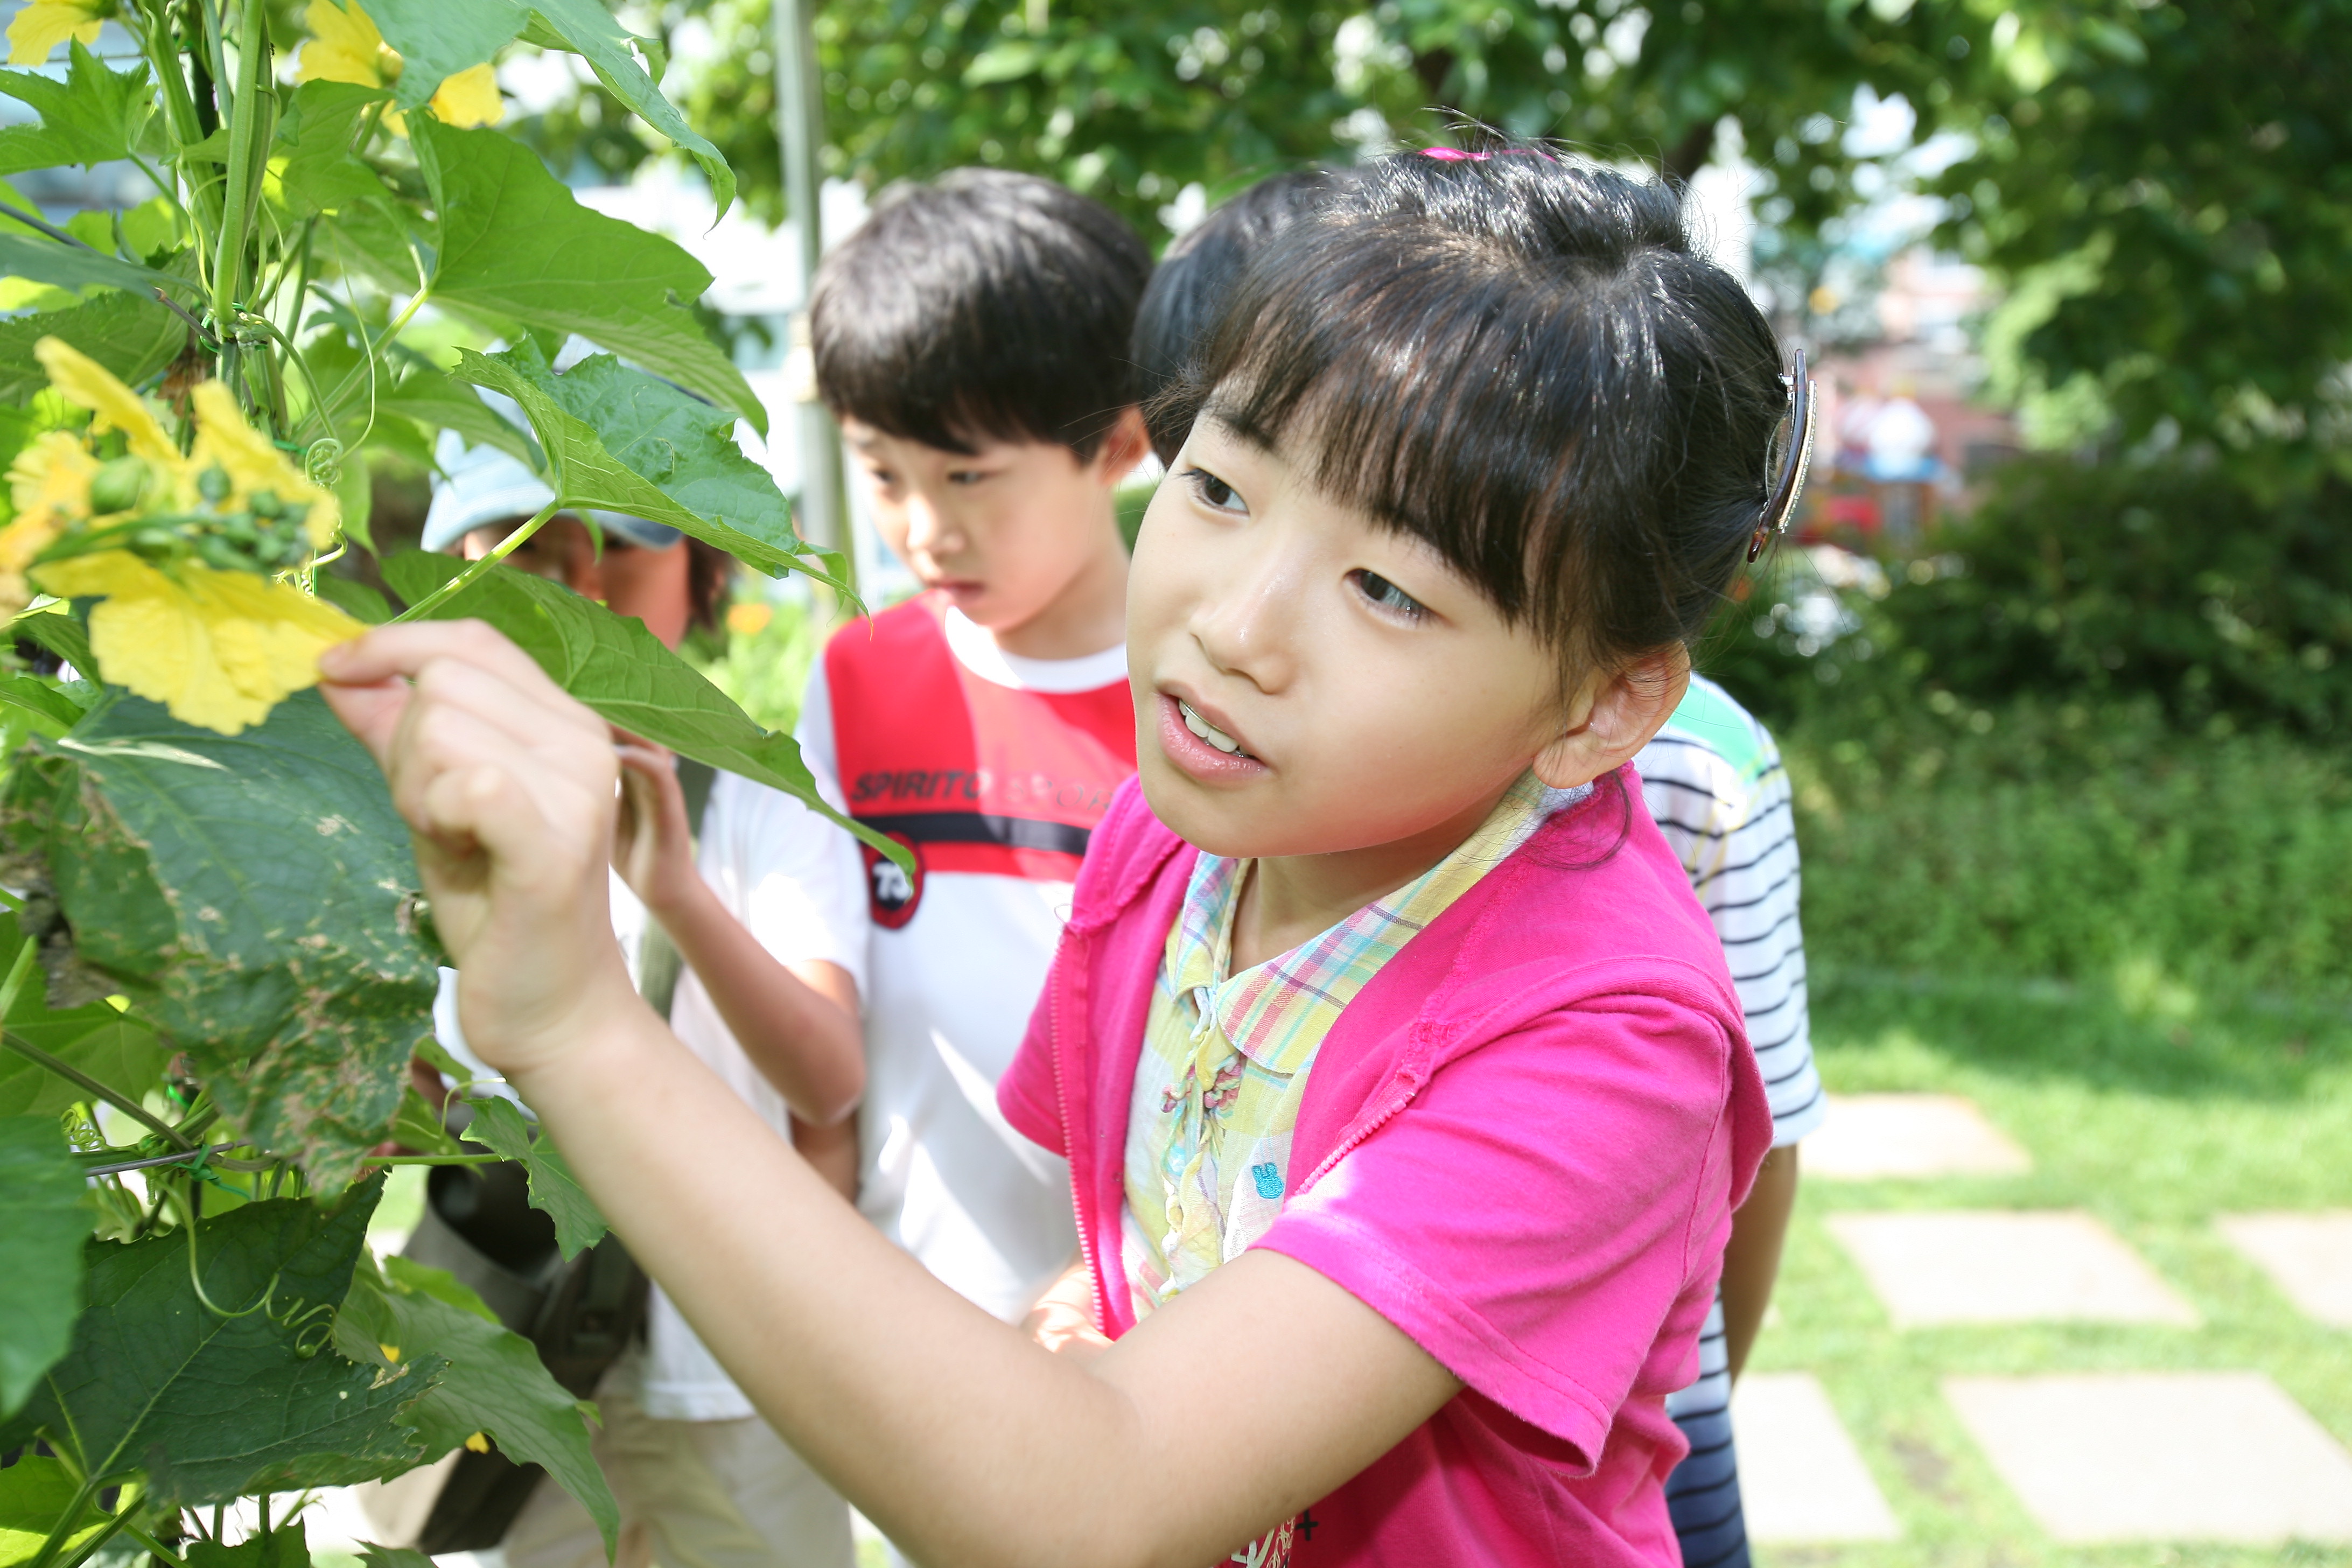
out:
<path id="1" fill-rule="evenodd" d="M 696 122 L 781 216 L 767 0 L 670 0 Z M 2305 454 L 2345 435 L 2352 360 L 2352 0 L 840 0 L 816 14 L 826 165 L 868 186 L 955 165 L 1049 174 L 1164 235 L 1221 197 L 1458 118 L 1691 176 L 1724 127 L 1799 310 L 1820 235 L 1898 160 L 1940 242 L 2030 294 L 2034 386 L 2086 378 L 2124 440 L 2161 421 Z M 691 42 L 691 49 L 687 45 Z M 1856 94 L 1900 96 L 1865 146 Z M 623 172 L 654 141 L 588 92 L 529 127 Z M 2333 421 L 2333 423 L 2331 423 Z"/>

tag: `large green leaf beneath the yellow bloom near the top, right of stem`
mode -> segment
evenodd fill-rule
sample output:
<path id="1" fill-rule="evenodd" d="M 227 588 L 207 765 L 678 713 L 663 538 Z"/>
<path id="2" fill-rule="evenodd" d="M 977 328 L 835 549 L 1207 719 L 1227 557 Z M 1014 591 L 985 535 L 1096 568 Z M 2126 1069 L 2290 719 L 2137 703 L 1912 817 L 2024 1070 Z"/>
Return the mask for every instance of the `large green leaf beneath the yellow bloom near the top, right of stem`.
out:
<path id="1" fill-rule="evenodd" d="M 492 129 L 412 127 L 437 216 L 433 299 L 581 334 L 767 433 L 743 371 L 687 310 L 710 273 L 675 242 L 572 200 L 539 153 Z"/>

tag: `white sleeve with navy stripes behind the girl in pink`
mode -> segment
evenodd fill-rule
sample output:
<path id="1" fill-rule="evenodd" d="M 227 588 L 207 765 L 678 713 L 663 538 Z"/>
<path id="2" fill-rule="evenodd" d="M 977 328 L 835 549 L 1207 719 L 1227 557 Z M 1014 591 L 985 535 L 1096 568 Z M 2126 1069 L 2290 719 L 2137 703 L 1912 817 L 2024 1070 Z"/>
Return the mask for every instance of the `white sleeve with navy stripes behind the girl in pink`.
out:
<path id="1" fill-rule="evenodd" d="M 1792 1145 L 1820 1126 L 1828 1103 L 1813 1070 L 1797 825 L 1780 748 L 1722 686 L 1691 677 L 1691 693 L 1635 769 L 1724 943 L 1771 1095 L 1773 1145 Z"/>

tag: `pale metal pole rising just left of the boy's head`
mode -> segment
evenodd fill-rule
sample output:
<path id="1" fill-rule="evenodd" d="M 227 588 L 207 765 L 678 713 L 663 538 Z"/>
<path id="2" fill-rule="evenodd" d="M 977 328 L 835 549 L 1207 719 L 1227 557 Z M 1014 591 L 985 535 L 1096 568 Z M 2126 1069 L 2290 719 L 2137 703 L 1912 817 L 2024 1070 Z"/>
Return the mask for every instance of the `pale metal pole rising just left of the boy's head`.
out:
<path id="1" fill-rule="evenodd" d="M 823 181 L 816 172 L 816 148 L 826 141 L 826 99 L 816 75 L 816 33 L 809 26 L 811 0 L 769 0 L 776 21 L 776 139 L 783 143 L 783 205 L 800 240 L 800 308 L 793 313 L 795 369 L 793 397 L 800 402 L 800 534 L 828 550 L 840 550 L 856 585 L 856 550 L 849 538 L 849 508 L 842 505 L 842 433 L 816 397 L 816 371 L 809 360 L 809 287 L 826 254 Z"/>

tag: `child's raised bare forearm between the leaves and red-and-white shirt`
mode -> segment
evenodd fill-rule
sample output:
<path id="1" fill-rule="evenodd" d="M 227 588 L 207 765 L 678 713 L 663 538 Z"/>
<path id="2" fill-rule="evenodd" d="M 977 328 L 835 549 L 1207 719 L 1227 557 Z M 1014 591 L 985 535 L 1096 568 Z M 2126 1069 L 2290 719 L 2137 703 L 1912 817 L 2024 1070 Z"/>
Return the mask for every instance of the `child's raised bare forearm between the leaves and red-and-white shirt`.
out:
<path id="1" fill-rule="evenodd" d="M 858 985 L 840 964 L 779 964 L 694 865 L 687 797 L 668 752 L 621 748 L 614 865 L 701 976 L 743 1056 L 793 1114 L 830 1128 L 866 1093 Z"/>

